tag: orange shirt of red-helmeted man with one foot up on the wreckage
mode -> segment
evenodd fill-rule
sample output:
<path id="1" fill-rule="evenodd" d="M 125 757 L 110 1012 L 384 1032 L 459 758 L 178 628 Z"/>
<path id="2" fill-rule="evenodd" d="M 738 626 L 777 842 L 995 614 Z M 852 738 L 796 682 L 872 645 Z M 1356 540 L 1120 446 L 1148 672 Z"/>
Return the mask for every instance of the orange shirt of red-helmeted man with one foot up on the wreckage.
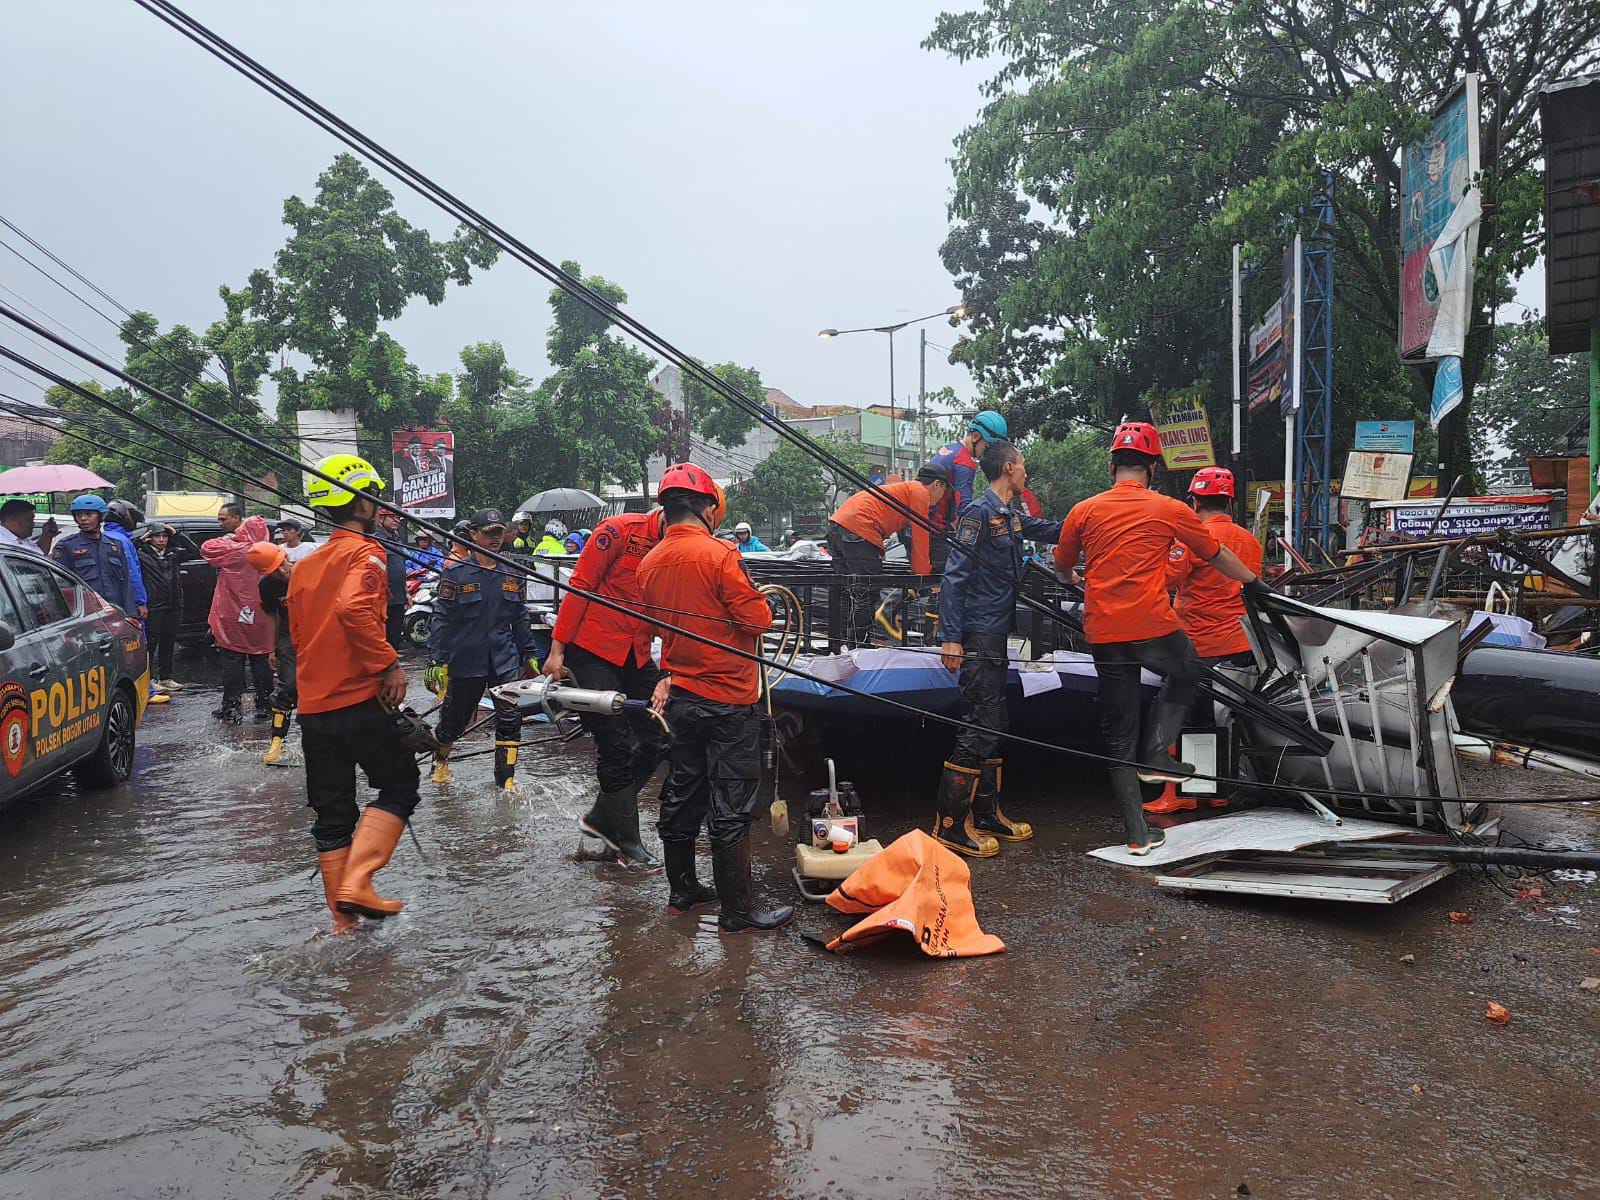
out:
<path id="1" fill-rule="evenodd" d="M 1173 539 L 1206 562 L 1222 549 L 1194 509 L 1138 480 L 1114 483 L 1072 507 L 1061 523 L 1056 566 L 1070 571 L 1083 554 L 1083 632 L 1093 645 L 1178 632 L 1166 594 Z"/>

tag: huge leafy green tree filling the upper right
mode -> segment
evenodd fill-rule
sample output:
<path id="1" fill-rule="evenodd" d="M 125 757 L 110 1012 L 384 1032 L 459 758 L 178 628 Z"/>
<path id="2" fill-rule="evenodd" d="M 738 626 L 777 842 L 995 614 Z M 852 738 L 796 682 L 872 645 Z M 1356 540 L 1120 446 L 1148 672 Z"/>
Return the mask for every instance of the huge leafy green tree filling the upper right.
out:
<path id="1" fill-rule="evenodd" d="M 1485 146 L 1496 147 L 1482 181 L 1475 325 L 1486 325 L 1536 254 L 1536 94 L 1600 61 L 1597 35 L 1600 8 L 1586 0 L 1448 11 L 1424 0 L 987 0 L 942 14 L 925 45 L 998 61 L 954 160 L 957 226 L 942 253 L 970 318 L 957 357 L 1008 398 L 1019 434 L 1115 419 L 1152 387 L 1219 378 L 1229 246 L 1270 261 L 1326 170 L 1336 339 L 1366 326 L 1360 341 L 1390 347 L 1341 354 L 1338 394 L 1410 416 L 1426 381 L 1392 362 L 1400 146 L 1426 130 L 1445 86 L 1483 75 Z M 1469 389 L 1485 350 L 1482 338 L 1469 346 Z M 1466 418 L 1443 430 L 1458 469 Z"/>

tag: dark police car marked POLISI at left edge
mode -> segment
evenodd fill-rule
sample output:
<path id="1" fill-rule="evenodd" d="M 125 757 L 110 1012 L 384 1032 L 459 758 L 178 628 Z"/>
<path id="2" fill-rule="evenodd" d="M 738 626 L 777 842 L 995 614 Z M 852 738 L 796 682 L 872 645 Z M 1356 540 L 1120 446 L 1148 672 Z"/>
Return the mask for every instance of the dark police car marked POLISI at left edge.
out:
<path id="1" fill-rule="evenodd" d="M 53 562 L 0 547 L 0 803 L 74 771 L 133 774 L 149 696 L 144 635 Z"/>

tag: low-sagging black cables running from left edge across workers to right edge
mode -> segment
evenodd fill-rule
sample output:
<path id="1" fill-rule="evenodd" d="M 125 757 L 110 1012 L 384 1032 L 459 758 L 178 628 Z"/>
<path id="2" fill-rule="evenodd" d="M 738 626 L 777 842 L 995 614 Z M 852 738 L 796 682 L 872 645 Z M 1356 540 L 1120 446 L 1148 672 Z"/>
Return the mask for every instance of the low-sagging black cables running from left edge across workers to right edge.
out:
<path id="1" fill-rule="evenodd" d="M 224 430 L 227 429 L 226 424 L 222 424 L 216 418 L 210 416 L 208 413 L 203 413 L 203 411 L 194 408 L 192 405 L 189 405 L 187 402 L 179 400 L 178 397 L 173 397 L 173 395 L 160 390 L 158 387 L 154 387 L 154 386 L 144 382 L 142 379 L 130 374 L 128 371 L 123 371 L 118 366 L 112 366 L 110 363 L 102 362 L 101 358 L 98 358 L 96 355 L 90 354 L 88 350 L 83 350 L 80 347 L 72 346 L 66 339 L 62 339 L 58 334 L 51 333 L 50 330 L 37 325 L 32 318 L 26 317 L 21 312 L 16 312 L 10 306 L 0 304 L 0 315 L 6 317 L 8 320 L 11 320 L 11 322 L 14 322 L 18 325 L 22 325 L 22 326 L 26 326 L 29 330 L 34 330 L 35 333 L 38 333 L 38 334 L 45 336 L 46 339 L 56 342 L 62 349 L 77 354 L 85 362 L 90 362 L 90 363 L 99 366 L 102 371 L 115 374 L 123 382 L 126 382 L 126 384 L 130 384 L 133 387 L 138 387 L 138 389 L 141 389 L 142 392 L 147 392 L 152 397 L 165 400 L 166 403 L 170 403 L 170 405 L 182 410 L 182 411 L 187 411 L 190 416 L 198 418 L 200 421 L 203 421 L 206 424 L 213 424 L 213 426 L 216 426 L 219 429 L 224 429 Z M 54 371 L 51 371 L 46 366 L 40 366 L 38 363 L 30 362 L 26 355 L 22 355 L 22 354 L 10 349 L 10 347 L 0 346 L 0 357 L 5 357 L 5 358 L 8 358 L 8 360 L 11 360 L 11 362 L 14 362 L 14 363 L 18 363 L 21 366 L 26 366 L 27 370 L 35 371 L 40 376 L 43 376 L 46 379 L 51 379 L 53 382 L 56 382 L 56 384 L 59 384 L 59 386 L 62 386 L 62 387 L 66 387 L 69 390 L 78 392 L 80 395 L 83 395 L 88 400 L 96 400 L 99 403 L 104 403 L 106 406 L 112 408 L 112 411 L 120 411 L 123 416 L 128 416 L 133 421 L 139 421 L 142 424 L 150 424 L 150 422 L 144 421 L 142 418 L 139 418 L 131 410 L 128 410 L 125 405 L 120 405 L 120 403 L 117 403 L 117 402 L 114 402 L 114 400 L 110 400 L 107 397 L 96 397 L 88 389 L 85 389 L 85 387 L 82 387 L 78 384 L 74 384 L 70 379 L 66 379 L 64 376 L 56 374 Z M 349 491 L 349 488 L 346 488 L 342 483 L 339 483 L 339 480 L 333 478 L 331 475 L 323 474 L 317 467 L 312 467 L 312 466 L 307 466 L 304 462 L 299 462 L 298 459 L 294 459 L 293 456 L 290 456 L 285 451 L 278 450 L 277 446 L 272 446 L 270 443 L 262 442 L 261 438 L 253 437 L 253 435 L 245 434 L 245 432 L 235 430 L 235 434 L 237 434 L 237 437 L 242 442 L 246 442 L 248 445 L 251 445 L 256 450 L 269 454 L 270 458 L 278 459 L 278 461 L 282 461 L 282 462 L 285 462 L 288 466 L 294 466 L 296 469 L 304 470 L 306 474 L 309 474 L 309 475 L 312 475 L 315 478 L 320 478 L 320 480 L 323 480 L 323 482 L 326 482 L 326 483 L 330 483 L 330 485 L 333 485 L 333 486 L 336 486 L 339 490 Z M 205 451 L 202 451 L 198 448 L 195 448 L 195 453 L 205 454 Z M 1077 749 L 1077 747 L 1072 747 L 1072 746 L 1058 746 L 1058 744 L 1053 744 L 1053 742 L 1045 742 L 1045 741 L 1038 741 L 1038 739 L 1034 739 L 1034 738 L 1026 738 L 1022 734 L 1016 734 L 1016 733 L 1010 733 L 1010 731 L 1003 731 L 1002 733 L 998 730 L 990 730 L 990 728 L 982 726 L 982 725 L 974 725 L 971 722 L 966 722 L 966 720 L 962 720 L 962 718 L 957 718 L 957 717 L 949 717 L 949 715 L 944 715 L 944 714 L 939 714 L 939 712 L 931 712 L 931 710 L 926 710 L 926 709 L 918 709 L 918 707 L 915 707 L 912 704 L 906 704 L 902 701 L 896 701 L 896 699 L 891 699 L 888 696 L 875 696 L 872 693 L 861 691 L 858 688 L 851 688 L 848 683 L 838 683 L 838 682 L 834 682 L 834 680 L 824 680 L 821 677 L 811 675 L 810 672 L 798 670 L 792 664 L 790 666 L 784 666 L 784 664 L 771 662 L 763 654 L 752 653 L 752 651 L 747 651 L 747 650 L 741 650 L 738 646 L 728 646 L 723 642 L 717 642 L 715 638 L 704 637 L 704 635 L 696 634 L 696 632 L 693 632 L 690 629 L 685 629 L 682 626 L 675 626 L 670 621 L 662 621 L 661 618 L 651 616 L 650 613 L 643 613 L 643 611 L 629 608 L 629 606 L 626 606 L 622 603 L 618 603 L 616 600 L 611 600 L 610 597 L 603 597 L 603 595 L 598 595 L 595 592 L 584 590 L 581 587 L 573 587 L 565 579 L 542 574 L 538 570 L 528 570 L 522 563 L 517 563 L 515 560 L 507 558 L 504 554 L 499 554 L 496 550 L 485 550 L 483 547 L 475 546 L 474 542 L 469 542 L 464 538 L 456 538 L 448 530 L 443 530 L 443 528 L 440 528 L 437 525 L 432 525 L 429 522 L 418 520 L 411 514 L 405 512 L 405 509 L 402 509 L 402 507 L 398 507 L 398 506 L 395 506 L 395 504 L 382 499 L 381 496 L 378 496 L 374 493 L 363 493 L 363 496 L 366 496 L 379 509 L 382 509 L 386 512 L 394 512 L 394 514 L 397 514 L 402 518 L 413 520 L 414 523 L 427 528 L 430 533 L 434 533 L 435 536 L 438 536 L 442 541 L 461 542 L 461 544 L 467 546 L 470 550 L 474 550 L 477 554 L 482 554 L 483 557 L 491 558 L 493 562 L 498 562 L 502 566 L 507 566 L 507 568 L 512 568 L 515 571 L 520 571 L 525 576 L 533 578 L 533 579 L 536 579 L 536 581 L 539 581 L 542 584 L 555 587 L 557 590 L 563 590 L 563 592 L 568 592 L 568 594 L 573 594 L 573 595 L 581 595 L 581 597 L 584 597 L 592 605 L 598 605 L 602 608 L 608 608 L 608 610 L 611 610 L 614 613 L 621 613 L 622 616 L 629 616 L 629 618 L 634 618 L 634 619 L 645 621 L 646 624 L 656 626 L 659 629 L 667 629 L 667 630 L 677 634 L 678 637 L 688 638 L 688 640 L 696 642 L 696 643 L 704 645 L 704 646 L 712 646 L 712 648 L 722 650 L 722 651 L 725 651 L 728 654 L 733 654 L 734 658 L 754 662 L 754 664 L 757 664 L 760 667 L 778 667 L 784 674 L 795 675 L 797 678 L 803 678 L 803 680 L 808 680 L 811 683 L 826 685 L 826 686 L 835 688 L 838 691 L 843 691 L 843 693 L 846 693 L 850 696 L 856 696 L 859 699 L 867 699 L 867 701 L 875 701 L 878 704 L 883 704 L 885 707 L 898 709 L 901 712 L 920 717 L 922 720 L 931 720 L 931 722 L 936 722 L 936 723 L 941 723 L 941 725 L 949 725 L 949 726 L 957 728 L 957 730 L 971 730 L 974 733 L 998 734 L 1005 741 L 1010 741 L 1010 742 L 1014 742 L 1014 744 L 1019 744 L 1019 746 L 1030 746 L 1030 747 L 1040 749 L 1040 750 L 1050 750 L 1050 752 L 1054 752 L 1054 754 L 1066 754 L 1066 755 L 1074 757 L 1074 758 L 1083 758 L 1083 760 L 1088 760 L 1088 762 L 1098 762 L 1098 763 L 1102 763 L 1106 766 L 1126 766 L 1126 768 L 1138 768 L 1138 766 L 1141 766 L 1141 763 L 1138 763 L 1138 762 L 1134 762 L 1131 758 L 1115 758 L 1112 755 L 1094 754 L 1093 750 L 1082 750 L 1082 749 Z M 1488 803 L 1589 803 L 1589 802 L 1600 802 L 1600 797 L 1518 797 L 1515 800 L 1507 800 L 1504 797 L 1390 795 L 1387 792 L 1350 790 L 1350 789 L 1338 789 L 1338 787 L 1318 786 L 1318 784 L 1280 784 L 1280 782 L 1267 782 L 1267 781 L 1259 781 L 1259 779 L 1238 779 L 1238 778 L 1232 778 L 1232 776 L 1219 776 L 1219 774 L 1210 774 L 1210 773 L 1203 773 L 1203 771 L 1197 771 L 1192 778 L 1194 779 L 1202 779 L 1202 781 L 1213 781 L 1213 782 L 1219 782 L 1219 784 L 1229 784 L 1229 786 L 1234 786 L 1234 787 L 1243 787 L 1243 789 L 1253 789 L 1253 790 L 1266 790 L 1266 792 L 1277 792 L 1277 794 L 1283 794 L 1283 795 L 1290 795 L 1290 797 L 1296 797 L 1296 798 L 1304 797 L 1304 795 L 1326 795 L 1326 797 L 1334 797 L 1334 798 L 1357 798 L 1357 800 L 1358 798 L 1373 798 L 1373 800 L 1384 800 L 1384 802 L 1430 803 L 1430 805 L 1437 805 L 1437 803 L 1488 805 Z"/>

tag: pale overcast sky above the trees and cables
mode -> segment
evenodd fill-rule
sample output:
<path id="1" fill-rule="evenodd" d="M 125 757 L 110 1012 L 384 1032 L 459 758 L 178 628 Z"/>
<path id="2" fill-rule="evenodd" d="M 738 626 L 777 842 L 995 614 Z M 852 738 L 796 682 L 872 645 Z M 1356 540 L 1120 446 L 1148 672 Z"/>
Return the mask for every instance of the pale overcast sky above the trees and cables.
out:
<path id="1" fill-rule="evenodd" d="M 187 11 L 629 310 L 803 403 L 882 403 L 880 325 L 955 304 L 952 138 L 984 70 L 918 48 L 938 0 L 189 0 Z M 0 0 L 0 213 L 130 307 L 203 330 L 336 144 L 130 0 Z M 384 181 L 435 235 L 453 222 Z M 10 232 L 0 230 L 6 240 Z M 0 285 L 115 334 L 14 256 Z M 392 331 L 424 371 L 501 341 L 542 376 L 549 285 L 501 261 Z M 6 299 L 13 299 L 6 296 Z M 949 344 L 952 331 L 930 326 Z M 896 338 L 915 394 L 915 331 Z M 48 362 L 48 360 L 46 360 Z M 930 389 L 965 371 L 930 352 Z M 0 390 L 18 390 L 0 376 Z"/>

